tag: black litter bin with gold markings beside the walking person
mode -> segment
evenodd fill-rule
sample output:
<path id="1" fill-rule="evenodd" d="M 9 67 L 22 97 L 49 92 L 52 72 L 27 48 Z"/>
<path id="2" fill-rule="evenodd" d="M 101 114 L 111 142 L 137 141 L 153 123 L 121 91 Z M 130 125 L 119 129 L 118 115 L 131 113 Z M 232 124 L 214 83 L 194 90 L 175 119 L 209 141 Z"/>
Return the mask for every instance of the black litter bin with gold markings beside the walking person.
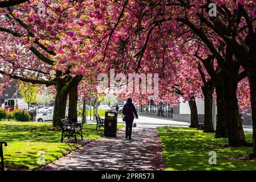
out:
<path id="1" fill-rule="evenodd" d="M 116 137 L 117 112 L 113 110 L 105 111 L 104 135 L 105 137 Z"/>

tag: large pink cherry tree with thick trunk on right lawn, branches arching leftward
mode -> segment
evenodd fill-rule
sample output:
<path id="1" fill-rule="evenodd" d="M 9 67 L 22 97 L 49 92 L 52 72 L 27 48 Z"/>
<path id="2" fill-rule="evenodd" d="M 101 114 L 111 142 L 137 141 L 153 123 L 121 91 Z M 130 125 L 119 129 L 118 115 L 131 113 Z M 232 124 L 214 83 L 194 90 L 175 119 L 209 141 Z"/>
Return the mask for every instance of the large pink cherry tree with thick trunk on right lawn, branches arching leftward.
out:
<path id="1" fill-rule="evenodd" d="M 210 1 L 124 2 L 125 13 L 122 18 L 113 21 L 116 23 L 108 34 L 109 42 L 104 48 L 104 53 L 106 53 L 104 61 L 110 58 L 115 64 L 120 64 L 121 68 L 124 65 L 128 70 L 147 70 L 145 68 L 149 69 L 152 66 L 146 58 L 150 57 L 148 55 L 154 51 L 153 55 L 160 57 L 158 53 L 162 51 L 163 45 L 172 47 L 174 59 L 177 57 L 180 51 L 178 51 L 177 41 L 173 40 L 173 36 L 180 36 L 182 38 L 180 43 L 187 42 L 190 37 L 200 40 L 197 57 L 200 57 L 200 60 L 209 60 L 207 59 L 208 56 L 214 57 L 217 60 L 218 69 L 221 70 L 218 74 L 221 80 L 216 85 L 223 85 L 229 144 L 231 146 L 247 145 L 239 119 L 237 100 L 237 84 L 246 76 L 247 71 L 241 69 L 241 65 L 243 66 L 240 60 L 242 56 L 238 57 L 238 52 L 245 51 L 239 51 L 238 47 L 245 47 L 243 43 L 245 41 L 242 41 L 245 36 L 242 35 L 246 35 L 247 27 L 253 26 L 254 4 L 247 1 L 219 2 L 217 3 L 219 17 L 215 18 L 208 14 L 209 3 Z M 99 6 L 96 7 L 99 8 Z M 116 7 L 112 6 L 112 9 L 117 7 L 118 5 Z M 246 17 L 248 14 L 244 10 L 247 10 L 252 18 Z M 98 18 L 106 19 L 104 14 L 100 14 L 99 11 L 97 13 Z M 118 14 L 114 17 L 120 16 Z M 237 24 L 234 22 L 237 22 Z M 246 26 L 246 22 L 249 26 Z M 126 31 L 124 30 L 121 34 L 123 28 Z M 180 35 L 177 32 L 184 33 Z M 233 39 L 229 39 L 230 37 Z M 156 44 L 157 46 L 155 46 Z M 237 46 L 235 47 L 236 51 L 234 51 L 234 45 Z M 195 52 L 196 49 L 187 49 L 186 51 L 193 50 Z M 253 50 L 253 48 L 250 50 Z M 243 57 L 246 57 L 246 55 L 243 55 Z M 171 59 L 168 63 L 170 62 L 172 62 Z M 168 63 L 165 65 L 168 65 Z M 218 69 L 215 68 L 214 71 L 219 73 Z M 213 80 L 217 81 L 217 79 Z M 220 90 L 218 89 L 217 93 L 220 93 Z"/>

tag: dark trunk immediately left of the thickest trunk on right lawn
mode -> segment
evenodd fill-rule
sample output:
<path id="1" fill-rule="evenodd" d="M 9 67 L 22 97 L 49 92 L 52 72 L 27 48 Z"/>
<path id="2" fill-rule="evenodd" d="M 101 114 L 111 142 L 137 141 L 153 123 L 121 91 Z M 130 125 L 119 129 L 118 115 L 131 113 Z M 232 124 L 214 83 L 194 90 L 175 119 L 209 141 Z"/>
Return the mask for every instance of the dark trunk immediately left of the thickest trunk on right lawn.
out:
<path id="1" fill-rule="evenodd" d="M 227 123 L 224 103 L 224 85 L 223 82 L 215 82 L 215 91 L 217 95 L 217 125 L 216 138 L 227 138 Z"/>

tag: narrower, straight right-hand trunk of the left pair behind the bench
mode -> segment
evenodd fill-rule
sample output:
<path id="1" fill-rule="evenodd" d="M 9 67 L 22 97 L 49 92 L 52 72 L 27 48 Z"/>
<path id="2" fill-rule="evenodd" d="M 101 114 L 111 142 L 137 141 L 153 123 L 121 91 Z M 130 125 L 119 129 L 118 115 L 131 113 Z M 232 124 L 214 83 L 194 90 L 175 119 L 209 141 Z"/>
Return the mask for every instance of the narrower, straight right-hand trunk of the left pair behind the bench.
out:
<path id="1" fill-rule="evenodd" d="M 68 118 L 72 122 L 78 122 L 78 84 L 74 85 L 69 92 Z"/>

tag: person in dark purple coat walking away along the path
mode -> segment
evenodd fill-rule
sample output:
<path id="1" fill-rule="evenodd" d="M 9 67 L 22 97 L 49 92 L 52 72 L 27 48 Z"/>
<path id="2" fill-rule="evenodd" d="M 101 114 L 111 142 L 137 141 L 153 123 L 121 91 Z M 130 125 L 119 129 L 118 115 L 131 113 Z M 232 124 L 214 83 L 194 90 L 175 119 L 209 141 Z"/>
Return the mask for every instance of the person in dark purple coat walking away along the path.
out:
<path id="1" fill-rule="evenodd" d="M 134 114 L 136 119 L 139 118 L 135 106 L 132 104 L 132 98 L 127 99 L 127 102 L 123 107 L 122 113 L 124 114 L 126 123 L 125 138 L 129 137 L 129 139 L 132 139 L 132 123 L 134 119 Z"/>

